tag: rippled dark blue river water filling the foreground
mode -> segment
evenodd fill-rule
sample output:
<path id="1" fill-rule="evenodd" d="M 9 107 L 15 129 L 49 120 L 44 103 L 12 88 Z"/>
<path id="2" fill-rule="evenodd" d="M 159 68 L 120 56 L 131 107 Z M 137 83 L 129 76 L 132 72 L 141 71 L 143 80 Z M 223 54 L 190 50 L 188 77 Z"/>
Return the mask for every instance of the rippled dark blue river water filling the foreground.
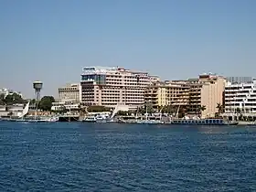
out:
<path id="1" fill-rule="evenodd" d="M 1 123 L 0 191 L 256 191 L 256 128 Z"/>

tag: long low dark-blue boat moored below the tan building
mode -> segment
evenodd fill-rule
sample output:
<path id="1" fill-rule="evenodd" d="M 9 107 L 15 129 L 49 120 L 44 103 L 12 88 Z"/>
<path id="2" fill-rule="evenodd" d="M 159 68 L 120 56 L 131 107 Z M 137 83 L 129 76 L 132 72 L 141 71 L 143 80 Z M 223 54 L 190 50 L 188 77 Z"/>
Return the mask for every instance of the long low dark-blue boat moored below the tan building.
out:
<path id="1" fill-rule="evenodd" d="M 223 119 L 174 119 L 170 124 L 187 125 L 238 125 L 238 122 L 229 122 Z"/>

